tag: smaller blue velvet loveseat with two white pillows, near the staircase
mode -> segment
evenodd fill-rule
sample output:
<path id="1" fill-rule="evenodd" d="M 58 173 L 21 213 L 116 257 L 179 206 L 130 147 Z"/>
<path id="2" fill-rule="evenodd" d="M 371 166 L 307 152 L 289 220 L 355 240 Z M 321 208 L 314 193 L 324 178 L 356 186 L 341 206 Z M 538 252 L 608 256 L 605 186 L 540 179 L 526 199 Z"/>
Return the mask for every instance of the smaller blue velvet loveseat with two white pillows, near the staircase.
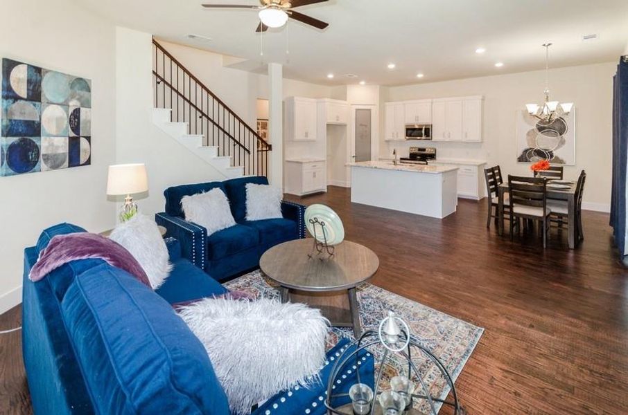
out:
<path id="1" fill-rule="evenodd" d="M 155 221 L 166 228 L 166 235 L 181 241 L 183 256 L 218 281 L 256 268 L 261 255 L 268 248 L 305 237 L 305 206 L 297 203 L 281 203 L 283 218 L 247 221 L 247 183 L 268 185 L 268 179 L 250 176 L 168 187 L 164 191 L 166 212 L 155 215 Z M 209 192 L 216 187 L 227 195 L 237 224 L 208 237 L 205 228 L 185 221 L 181 199 L 183 196 Z"/>

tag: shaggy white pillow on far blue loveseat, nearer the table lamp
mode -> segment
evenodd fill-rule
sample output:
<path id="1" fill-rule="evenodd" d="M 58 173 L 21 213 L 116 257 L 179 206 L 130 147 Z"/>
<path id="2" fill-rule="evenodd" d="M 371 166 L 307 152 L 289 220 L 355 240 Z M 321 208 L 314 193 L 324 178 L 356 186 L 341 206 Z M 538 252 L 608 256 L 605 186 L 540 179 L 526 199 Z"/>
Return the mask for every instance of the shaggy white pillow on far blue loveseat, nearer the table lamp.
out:
<path id="1" fill-rule="evenodd" d="M 185 220 L 194 222 L 207 229 L 207 236 L 236 224 L 229 208 L 229 199 L 221 189 L 183 196 L 181 207 Z"/>

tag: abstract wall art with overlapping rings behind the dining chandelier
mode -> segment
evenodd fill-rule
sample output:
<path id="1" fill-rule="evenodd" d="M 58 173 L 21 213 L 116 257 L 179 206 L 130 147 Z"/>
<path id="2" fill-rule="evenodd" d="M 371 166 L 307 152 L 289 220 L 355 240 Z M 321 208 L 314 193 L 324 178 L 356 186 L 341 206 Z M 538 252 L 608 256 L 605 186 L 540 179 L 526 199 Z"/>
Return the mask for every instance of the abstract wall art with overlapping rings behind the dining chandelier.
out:
<path id="1" fill-rule="evenodd" d="M 517 161 L 536 163 L 548 160 L 557 165 L 575 165 L 575 108 L 568 116 L 550 122 L 517 111 Z"/>

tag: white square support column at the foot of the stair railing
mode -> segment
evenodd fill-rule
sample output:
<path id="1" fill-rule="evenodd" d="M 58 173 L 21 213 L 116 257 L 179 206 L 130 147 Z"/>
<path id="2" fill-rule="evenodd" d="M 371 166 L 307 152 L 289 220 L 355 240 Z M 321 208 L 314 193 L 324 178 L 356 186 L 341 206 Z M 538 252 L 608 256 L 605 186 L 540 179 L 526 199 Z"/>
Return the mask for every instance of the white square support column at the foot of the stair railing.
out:
<path id="1" fill-rule="evenodd" d="M 272 144 L 268 179 L 284 188 L 284 66 L 268 64 L 268 136 Z"/>

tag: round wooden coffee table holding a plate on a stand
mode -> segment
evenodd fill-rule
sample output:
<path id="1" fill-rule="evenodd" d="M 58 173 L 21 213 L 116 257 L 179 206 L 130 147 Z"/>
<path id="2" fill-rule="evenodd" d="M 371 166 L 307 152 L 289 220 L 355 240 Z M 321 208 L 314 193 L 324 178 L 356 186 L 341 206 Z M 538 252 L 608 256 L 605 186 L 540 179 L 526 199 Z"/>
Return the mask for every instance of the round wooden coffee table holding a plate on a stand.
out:
<path id="1" fill-rule="evenodd" d="M 356 337 L 360 336 L 356 286 L 379 268 L 375 252 L 359 243 L 343 241 L 329 257 L 324 251 L 316 252 L 313 239 L 297 239 L 264 252 L 259 268 L 279 284 L 282 302 L 290 300 L 319 308 L 333 326 L 353 327 Z"/>

